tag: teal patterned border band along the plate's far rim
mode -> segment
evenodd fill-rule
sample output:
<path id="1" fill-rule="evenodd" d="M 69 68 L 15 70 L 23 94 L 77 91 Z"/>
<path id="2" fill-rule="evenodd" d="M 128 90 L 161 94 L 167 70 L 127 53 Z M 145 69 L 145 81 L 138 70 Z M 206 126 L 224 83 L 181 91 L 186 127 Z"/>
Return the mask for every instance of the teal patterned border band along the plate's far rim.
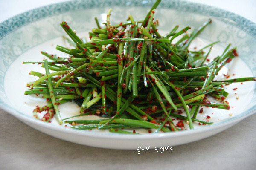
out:
<path id="1" fill-rule="evenodd" d="M 23 26 L 26 23 L 30 23 L 40 18 L 60 14 L 63 12 L 88 9 L 92 8 L 93 6 L 152 6 L 154 2 L 154 0 L 74 0 L 63 3 L 56 3 L 29 10 L 3 21 L 0 23 L 0 39 L 9 32 L 17 29 L 20 26 Z M 225 18 L 221 20 L 225 20 L 226 22 L 234 24 L 256 37 L 256 23 L 253 23 L 250 20 L 247 20 L 246 18 L 232 12 L 203 4 L 197 4 L 197 6 L 193 6 L 193 4 L 195 3 L 177 0 L 163 0 L 160 3 L 160 8 L 171 8 L 179 11 L 193 12 L 206 16 L 218 17 L 219 19 Z M 206 8 L 207 10 L 205 10 Z"/>

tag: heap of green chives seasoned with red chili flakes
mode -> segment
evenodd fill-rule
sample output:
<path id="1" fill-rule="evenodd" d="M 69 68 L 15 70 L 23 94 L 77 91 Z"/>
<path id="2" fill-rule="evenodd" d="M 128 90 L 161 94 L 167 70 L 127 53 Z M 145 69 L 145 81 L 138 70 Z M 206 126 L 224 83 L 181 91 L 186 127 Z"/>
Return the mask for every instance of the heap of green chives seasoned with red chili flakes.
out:
<path id="1" fill-rule="evenodd" d="M 189 51 L 190 43 L 211 22 L 209 19 L 189 34 L 189 26 L 175 26 L 168 34 L 160 35 L 154 19 L 157 0 L 145 19 L 134 20 L 130 15 L 124 22 L 112 25 L 108 10 L 104 28 L 95 18 L 97 28 L 89 32 L 90 41 L 80 39 L 66 22 L 60 25 L 73 48 L 56 49 L 70 57 L 61 58 L 41 52 L 48 59 L 39 63 L 45 74 L 29 82 L 25 95 L 42 95 L 49 104 L 38 106 L 33 116 L 50 122 L 55 115 L 59 124 L 71 124 L 79 130 L 109 129 L 113 133 L 138 134 L 133 128 L 145 128 L 149 133 L 189 129 L 195 123 L 212 124 L 197 119 L 201 106 L 230 109 L 225 85 L 255 81 L 254 77 L 215 81 L 220 69 L 238 56 L 236 48 L 226 47 L 222 55 L 205 62 L 211 43 L 197 51 Z M 181 36 L 180 36 L 181 35 Z M 181 38 L 180 38 L 181 37 Z M 173 43 L 174 39 L 178 39 Z M 71 40 L 70 40 L 71 39 Z M 205 51 L 206 50 L 206 51 Z M 49 61 L 48 61 L 49 60 Z M 218 102 L 209 101 L 212 96 Z M 61 118 L 58 106 L 74 101 L 82 115 L 97 115 L 97 120 Z M 180 114 L 184 110 L 186 115 Z M 42 118 L 38 113 L 45 112 Z M 173 120 L 180 120 L 174 124 Z M 183 123 L 184 122 L 184 123 Z"/>

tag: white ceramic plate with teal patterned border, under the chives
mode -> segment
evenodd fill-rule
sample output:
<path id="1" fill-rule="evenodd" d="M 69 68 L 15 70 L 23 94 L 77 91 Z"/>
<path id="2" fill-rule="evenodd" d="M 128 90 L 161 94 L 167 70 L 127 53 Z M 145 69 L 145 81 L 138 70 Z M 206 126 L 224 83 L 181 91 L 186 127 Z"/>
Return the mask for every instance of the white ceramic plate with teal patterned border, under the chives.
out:
<path id="1" fill-rule="evenodd" d="M 20 121 L 66 141 L 94 147 L 113 149 L 136 149 L 139 146 L 175 146 L 207 138 L 238 123 L 256 110 L 255 83 L 232 84 L 228 86 L 230 93 L 227 100 L 230 110 L 204 108 L 198 119 L 206 120 L 206 115 L 215 122 L 210 126 L 195 124 L 195 130 L 184 130 L 175 133 L 159 133 L 145 135 L 121 135 L 116 133 L 100 133 L 97 130 L 72 130 L 69 127 L 36 120 L 32 117 L 35 106 L 44 105 L 45 101 L 35 96 L 25 96 L 26 83 L 35 80 L 28 73 L 30 70 L 43 71 L 38 65 L 24 65 L 23 61 L 41 61 L 41 50 L 62 55 L 55 46 L 65 44 L 61 38 L 65 35 L 59 26 L 61 21 L 76 30 L 80 37 L 87 36 L 96 27 L 94 17 L 104 22 L 106 12 L 112 8 L 111 22 L 119 23 L 129 14 L 135 19 L 142 19 L 153 5 L 148 1 L 119 0 L 85 0 L 58 3 L 43 8 L 34 9 L 17 15 L 0 24 L 0 106 Z M 191 26 L 196 29 L 208 18 L 212 23 L 195 40 L 191 48 L 202 47 L 210 42 L 221 41 L 212 50 L 215 57 L 224 50 L 228 43 L 237 46 L 239 58 L 236 58 L 219 73 L 218 79 L 256 76 L 256 24 L 236 14 L 209 6 L 182 1 L 163 1 L 157 8 L 155 18 L 160 20 L 159 30 L 166 33 L 175 25 L 180 29 Z M 234 75 L 233 75 L 234 74 Z M 236 91 L 233 88 L 237 87 Z M 239 100 L 236 99 L 239 96 Z M 65 104 L 60 107 L 62 118 L 77 115 L 76 104 Z M 232 116 L 230 116 L 232 114 Z"/>

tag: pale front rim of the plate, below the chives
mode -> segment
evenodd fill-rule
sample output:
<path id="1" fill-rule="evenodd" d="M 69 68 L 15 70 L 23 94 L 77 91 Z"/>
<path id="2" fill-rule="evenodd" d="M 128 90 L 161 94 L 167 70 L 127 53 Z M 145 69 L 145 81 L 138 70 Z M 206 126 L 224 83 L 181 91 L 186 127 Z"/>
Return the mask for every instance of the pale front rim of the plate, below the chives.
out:
<path id="1" fill-rule="evenodd" d="M 75 130 L 68 128 L 65 129 L 63 126 L 56 126 L 54 124 L 49 124 L 47 122 L 35 119 L 33 117 L 29 117 L 28 115 L 19 114 L 17 112 L 9 112 L 10 110 L 6 109 L 3 106 L 0 106 L 1 109 L 5 110 L 9 114 L 15 116 L 17 119 L 22 121 L 23 123 L 27 124 L 26 122 L 29 122 L 29 124 L 34 124 L 39 127 L 44 127 L 49 130 L 55 130 L 61 133 L 68 133 L 68 134 L 75 134 L 75 135 L 81 135 L 83 137 L 94 137 L 94 138 L 105 138 L 105 139 L 126 139 L 126 140 L 140 140 L 140 139 L 153 139 L 153 138 L 176 138 L 179 136 L 186 136 L 186 135 L 193 135 L 193 134 L 199 134 L 204 133 L 208 131 L 212 131 L 215 129 L 219 129 L 221 127 L 226 127 L 230 124 L 236 124 L 239 121 L 242 121 L 244 118 L 249 117 L 250 115 L 253 115 L 255 112 L 250 112 L 247 115 L 240 116 L 239 118 L 234 117 L 232 121 L 227 121 L 225 123 L 218 123 L 218 124 L 212 124 L 212 125 L 204 125 L 206 127 L 201 127 L 197 129 L 192 130 L 181 130 L 178 132 L 169 132 L 169 133 L 148 133 L 143 135 L 133 135 L 133 134 L 119 134 L 119 133 L 93 133 L 93 131 L 88 130 Z M 29 118 L 29 119 L 28 119 Z M 230 120 L 230 119 L 228 119 Z M 225 130 L 225 129 L 224 129 Z"/>

